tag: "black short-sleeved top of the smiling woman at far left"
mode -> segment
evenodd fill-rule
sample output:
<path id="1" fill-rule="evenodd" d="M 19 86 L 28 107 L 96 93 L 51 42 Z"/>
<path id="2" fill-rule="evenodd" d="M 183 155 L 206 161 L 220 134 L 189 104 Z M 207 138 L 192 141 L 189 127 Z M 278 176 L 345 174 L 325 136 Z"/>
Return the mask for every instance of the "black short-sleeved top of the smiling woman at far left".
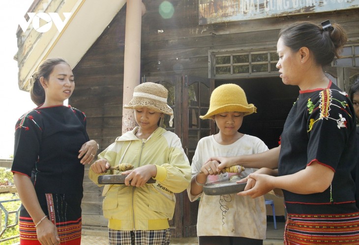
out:
<path id="1" fill-rule="evenodd" d="M 37 193 L 82 198 L 84 165 L 77 156 L 88 140 L 80 110 L 62 105 L 33 109 L 16 124 L 11 171 L 30 176 Z"/>

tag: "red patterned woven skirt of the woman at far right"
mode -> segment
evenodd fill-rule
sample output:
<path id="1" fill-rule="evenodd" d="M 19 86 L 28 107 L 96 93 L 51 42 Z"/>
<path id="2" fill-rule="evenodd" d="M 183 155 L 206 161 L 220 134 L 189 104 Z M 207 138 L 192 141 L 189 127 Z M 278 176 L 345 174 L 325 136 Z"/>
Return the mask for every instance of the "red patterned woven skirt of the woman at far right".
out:
<path id="1" fill-rule="evenodd" d="M 288 214 L 285 245 L 358 245 L 359 214 Z"/>

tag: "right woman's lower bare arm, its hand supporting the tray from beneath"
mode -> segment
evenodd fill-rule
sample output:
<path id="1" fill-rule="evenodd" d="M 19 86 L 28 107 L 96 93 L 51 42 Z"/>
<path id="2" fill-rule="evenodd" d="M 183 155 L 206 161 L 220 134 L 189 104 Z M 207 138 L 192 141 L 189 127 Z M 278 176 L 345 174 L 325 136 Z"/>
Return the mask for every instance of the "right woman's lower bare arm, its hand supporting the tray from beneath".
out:
<path id="1" fill-rule="evenodd" d="M 261 196 L 275 188 L 291 191 L 298 194 L 312 194 L 328 189 L 333 180 L 334 172 L 327 166 L 317 162 L 311 163 L 305 169 L 289 175 L 273 177 L 266 174 L 250 174 L 255 179 L 254 187 L 248 191 L 239 192 L 239 195 L 249 195 L 252 198 Z"/>

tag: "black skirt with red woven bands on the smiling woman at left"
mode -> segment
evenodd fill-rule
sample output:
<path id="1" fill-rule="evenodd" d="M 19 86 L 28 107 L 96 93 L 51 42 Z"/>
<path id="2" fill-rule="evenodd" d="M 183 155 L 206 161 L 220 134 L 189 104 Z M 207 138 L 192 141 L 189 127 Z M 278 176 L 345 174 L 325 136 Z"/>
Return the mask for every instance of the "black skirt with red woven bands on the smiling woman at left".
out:
<path id="1" fill-rule="evenodd" d="M 73 203 L 74 200 L 69 201 L 64 194 L 45 194 L 44 197 L 45 200 L 38 196 L 41 208 L 50 221 L 56 224 L 61 245 L 81 245 L 82 219 L 78 201 Z M 46 205 L 43 205 L 44 201 Z M 40 245 L 35 224 L 24 206 L 20 209 L 19 231 L 20 245 Z"/>

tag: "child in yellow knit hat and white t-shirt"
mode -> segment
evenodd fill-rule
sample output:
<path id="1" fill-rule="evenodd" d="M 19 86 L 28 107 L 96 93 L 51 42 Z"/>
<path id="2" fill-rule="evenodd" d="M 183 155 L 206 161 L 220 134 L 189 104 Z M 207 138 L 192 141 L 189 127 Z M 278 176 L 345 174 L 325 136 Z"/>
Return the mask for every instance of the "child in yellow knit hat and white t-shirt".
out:
<path id="1" fill-rule="evenodd" d="M 199 197 L 197 219 L 199 244 L 262 245 L 266 238 L 267 215 L 264 197 L 252 199 L 237 194 L 206 195 L 203 185 L 214 181 L 244 178 L 257 169 L 245 168 L 240 173 L 217 172 L 211 157 L 231 157 L 261 153 L 266 144 L 255 136 L 239 133 L 243 117 L 256 112 L 245 93 L 236 84 L 223 84 L 213 90 L 209 110 L 202 119 L 216 122 L 219 132 L 201 138 L 192 159 L 192 181 L 187 189 L 193 202 Z"/>

